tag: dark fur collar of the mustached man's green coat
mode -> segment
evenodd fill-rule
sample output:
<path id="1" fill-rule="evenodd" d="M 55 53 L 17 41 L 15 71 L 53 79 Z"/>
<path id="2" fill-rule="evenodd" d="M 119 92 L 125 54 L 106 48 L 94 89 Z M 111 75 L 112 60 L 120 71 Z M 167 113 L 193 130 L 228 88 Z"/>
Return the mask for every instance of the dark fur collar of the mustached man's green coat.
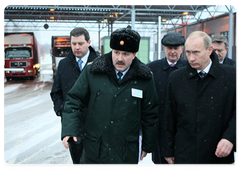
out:
<path id="1" fill-rule="evenodd" d="M 117 79 L 114 66 L 112 64 L 112 52 L 95 59 L 90 66 L 90 73 L 107 74 L 113 79 Z M 150 69 L 145 64 L 143 64 L 137 57 L 134 58 L 129 71 L 124 76 L 121 82 L 125 82 L 133 78 L 140 78 L 146 80 L 150 80 L 152 78 L 152 73 Z"/>

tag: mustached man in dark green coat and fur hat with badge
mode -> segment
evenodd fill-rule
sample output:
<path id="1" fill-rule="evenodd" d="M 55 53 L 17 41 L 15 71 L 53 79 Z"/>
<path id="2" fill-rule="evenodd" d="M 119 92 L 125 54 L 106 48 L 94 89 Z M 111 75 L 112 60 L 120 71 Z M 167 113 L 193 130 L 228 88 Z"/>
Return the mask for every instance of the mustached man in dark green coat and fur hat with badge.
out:
<path id="1" fill-rule="evenodd" d="M 71 137 L 77 142 L 85 123 L 84 164 L 137 164 L 140 131 L 141 160 L 155 147 L 158 96 L 150 69 L 135 57 L 139 42 L 136 31 L 114 31 L 112 51 L 88 65 L 68 92 L 63 145 L 68 148 Z"/>

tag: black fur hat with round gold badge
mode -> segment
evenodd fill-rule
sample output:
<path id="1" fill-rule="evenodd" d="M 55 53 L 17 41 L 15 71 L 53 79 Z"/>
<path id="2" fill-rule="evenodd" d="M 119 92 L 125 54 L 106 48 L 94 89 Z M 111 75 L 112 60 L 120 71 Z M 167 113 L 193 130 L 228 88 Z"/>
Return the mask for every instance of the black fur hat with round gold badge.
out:
<path id="1" fill-rule="evenodd" d="M 110 47 L 115 50 L 138 52 L 140 35 L 129 28 L 121 28 L 112 32 Z"/>

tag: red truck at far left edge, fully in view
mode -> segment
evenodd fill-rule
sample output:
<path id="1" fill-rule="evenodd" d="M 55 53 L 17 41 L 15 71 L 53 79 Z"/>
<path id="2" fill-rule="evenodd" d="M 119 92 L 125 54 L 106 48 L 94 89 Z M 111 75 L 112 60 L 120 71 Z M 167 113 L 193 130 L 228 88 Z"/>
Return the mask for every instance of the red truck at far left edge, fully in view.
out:
<path id="1" fill-rule="evenodd" d="M 5 77 L 34 79 L 40 72 L 40 46 L 33 32 L 4 33 Z"/>

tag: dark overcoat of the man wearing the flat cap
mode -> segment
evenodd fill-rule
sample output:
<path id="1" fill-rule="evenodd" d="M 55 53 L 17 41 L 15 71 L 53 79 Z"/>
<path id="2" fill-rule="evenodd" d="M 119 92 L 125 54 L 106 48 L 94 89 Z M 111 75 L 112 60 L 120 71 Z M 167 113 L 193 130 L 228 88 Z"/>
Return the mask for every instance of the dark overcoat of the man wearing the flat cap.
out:
<path id="1" fill-rule="evenodd" d="M 156 60 L 156 61 L 153 61 L 153 62 L 147 64 L 147 66 L 153 72 L 153 76 L 154 76 L 154 80 L 155 80 L 155 86 L 156 86 L 156 89 L 157 89 L 157 94 L 158 94 L 158 99 L 159 99 L 159 108 L 158 108 L 159 124 L 160 124 L 160 121 L 161 121 L 161 115 L 163 113 L 167 79 L 173 71 L 175 71 L 175 70 L 177 70 L 181 67 L 186 66 L 186 64 L 187 64 L 187 60 L 185 60 L 183 58 L 179 58 L 179 60 L 175 64 L 175 66 L 171 67 L 168 64 L 166 57 L 161 59 L 161 60 Z M 154 149 L 154 151 L 152 153 L 152 160 L 157 165 L 163 164 L 164 162 L 167 163 L 164 160 L 164 158 L 161 159 L 161 154 L 160 154 L 161 129 L 160 128 L 162 126 L 158 126 L 158 127 L 159 127 L 159 130 L 158 130 L 157 145 L 156 145 L 156 148 Z"/>

